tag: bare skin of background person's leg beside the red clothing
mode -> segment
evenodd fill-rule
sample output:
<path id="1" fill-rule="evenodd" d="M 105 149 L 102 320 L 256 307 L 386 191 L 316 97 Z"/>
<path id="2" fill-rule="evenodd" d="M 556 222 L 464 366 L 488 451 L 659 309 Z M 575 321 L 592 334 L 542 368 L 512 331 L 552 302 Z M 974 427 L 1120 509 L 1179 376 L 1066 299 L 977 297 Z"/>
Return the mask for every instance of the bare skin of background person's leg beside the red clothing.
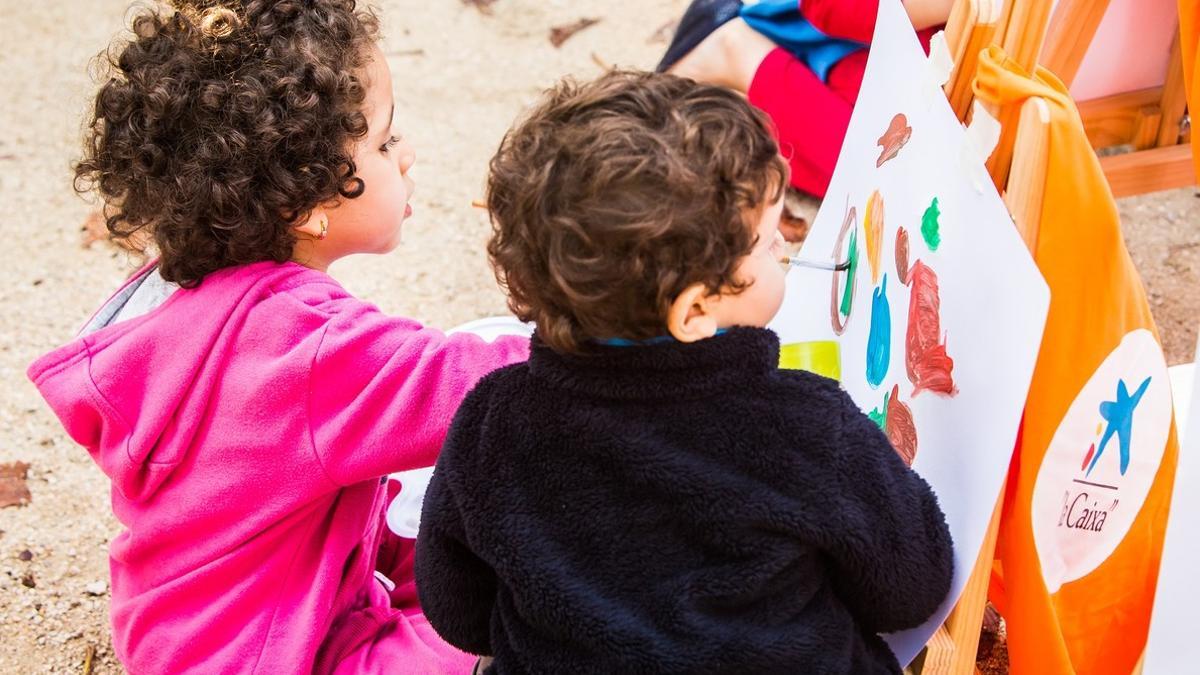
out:
<path id="1" fill-rule="evenodd" d="M 775 43 L 740 18 L 713 31 L 667 72 L 745 94 Z"/>

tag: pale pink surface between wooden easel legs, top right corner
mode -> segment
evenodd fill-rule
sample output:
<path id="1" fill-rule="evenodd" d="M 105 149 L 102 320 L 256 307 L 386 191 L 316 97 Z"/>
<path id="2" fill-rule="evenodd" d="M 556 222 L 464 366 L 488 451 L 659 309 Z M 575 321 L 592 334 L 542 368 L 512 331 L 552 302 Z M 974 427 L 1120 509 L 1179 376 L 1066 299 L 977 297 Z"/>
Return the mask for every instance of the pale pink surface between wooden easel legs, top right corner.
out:
<path id="1" fill-rule="evenodd" d="M 1090 101 L 1162 85 L 1177 17 L 1176 0 L 1111 0 L 1070 85 L 1072 98 Z"/>

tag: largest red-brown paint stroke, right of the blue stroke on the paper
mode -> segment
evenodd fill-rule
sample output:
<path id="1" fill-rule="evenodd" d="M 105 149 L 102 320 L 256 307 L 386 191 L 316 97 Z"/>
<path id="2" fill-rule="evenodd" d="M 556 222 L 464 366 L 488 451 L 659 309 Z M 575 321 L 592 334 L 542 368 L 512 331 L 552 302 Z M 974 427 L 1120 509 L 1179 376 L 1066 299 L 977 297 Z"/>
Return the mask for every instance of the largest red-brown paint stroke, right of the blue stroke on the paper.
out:
<path id="1" fill-rule="evenodd" d="M 942 301 L 937 294 L 937 273 L 917 261 L 908 273 L 912 294 L 908 300 L 908 335 L 905 339 L 905 362 L 912 394 L 929 390 L 953 396 L 954 359 L 946 353 L 942 335 Z"/>

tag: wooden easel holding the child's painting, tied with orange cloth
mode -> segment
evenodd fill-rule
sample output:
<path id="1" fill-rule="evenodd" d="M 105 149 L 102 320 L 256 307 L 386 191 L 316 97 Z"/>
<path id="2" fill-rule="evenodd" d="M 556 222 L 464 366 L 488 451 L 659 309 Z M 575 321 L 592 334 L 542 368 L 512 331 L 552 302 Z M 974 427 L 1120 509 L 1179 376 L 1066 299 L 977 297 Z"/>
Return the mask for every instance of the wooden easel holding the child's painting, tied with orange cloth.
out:
<path id="1" fill-rule="evenodd" d="M 1026 70 L 1032 71 L 1040 50 L 1040 31 L 1016 30 L 1033 23 L 1045 25 L 1046 0 L 1012 0 L 1003 11 L 1001 0 L 958 0 L 947 24 L 947 43 L 955 59 L 946 92 L 959 119 L 966 121 L 973 95 L 979 52 L 998 43 Z M 1043 13 L 1044 12 L 1044 13 Z M 1013 30 L 1008 30 L 1012 26 Z M 1050 147 L 1050 108 L 1038 97 L 1013 109 L 989 110 L 1001 120 L 1001 139 L 988 161 L 988 171 L 1001 187 L 1004 204 L 1016 229 L 1032 251 L 1040 226 L 1042 199 L 1045 191 L 1046 162 Z M 946 623 L 928 644 L 923 675 L 966 675 L 976 673 L 976 650 L 988 604 L 996 537 L 1004 486 L 1001 486 L 991 522 L 984 534 L 979 557 L 972 568 L 958 604 Z"/>

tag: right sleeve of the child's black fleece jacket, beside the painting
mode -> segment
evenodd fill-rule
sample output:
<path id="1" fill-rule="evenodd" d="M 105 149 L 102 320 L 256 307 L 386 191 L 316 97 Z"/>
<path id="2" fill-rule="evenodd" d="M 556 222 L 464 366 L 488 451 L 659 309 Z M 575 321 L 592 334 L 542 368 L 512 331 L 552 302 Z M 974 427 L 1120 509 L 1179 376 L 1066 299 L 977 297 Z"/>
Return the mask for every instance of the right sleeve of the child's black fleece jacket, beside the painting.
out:
<path id="1" fill-rule="evenodd" d="M 953 550 L 932 490 L 880 428 L 844 398 L 841 497 L 829 533 L 834 589 L 859 623 L 890 633 L 923 623 L 946 599 Z"/>

